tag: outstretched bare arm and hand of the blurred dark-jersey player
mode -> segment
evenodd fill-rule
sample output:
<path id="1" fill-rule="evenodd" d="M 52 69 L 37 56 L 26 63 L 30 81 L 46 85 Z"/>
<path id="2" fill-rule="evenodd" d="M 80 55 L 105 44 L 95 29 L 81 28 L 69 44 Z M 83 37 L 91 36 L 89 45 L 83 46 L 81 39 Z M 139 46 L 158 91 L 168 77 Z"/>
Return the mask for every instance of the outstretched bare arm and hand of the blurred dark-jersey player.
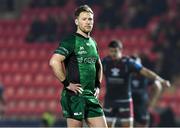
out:
<path id="1" fill-rule="evenodd" d="M 161 78 L 159 75 L 157 75 L 155 72 L 142 67 L 142 69 L 140 70 L 140 74 L 143 75 L 144 77 L 154 80 L 154 81 L 159 81 L 163 86 L 167 86 L 170 87 L 170 82 L 168 80 L 164 80 L 163 78 Z"/>

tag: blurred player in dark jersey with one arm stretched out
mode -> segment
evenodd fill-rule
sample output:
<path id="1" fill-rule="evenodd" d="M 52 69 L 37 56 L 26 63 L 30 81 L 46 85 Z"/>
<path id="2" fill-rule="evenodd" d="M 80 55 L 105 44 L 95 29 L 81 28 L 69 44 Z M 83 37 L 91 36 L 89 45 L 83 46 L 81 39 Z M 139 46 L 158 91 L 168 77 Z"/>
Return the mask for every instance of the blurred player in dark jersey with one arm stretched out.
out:
<path id="1" fill-rule="evenodd" d="M 104 111 L 107 122 L 112 127 L 133 127 L 131 74 L 139 73 L 165 86 L 170 86 L 170 83 L 135 60 L 123 57 L 121 42 L 112 41 L 108 47 L 109 56 L 105 57 L 102 62 L 106 78 Z"/>

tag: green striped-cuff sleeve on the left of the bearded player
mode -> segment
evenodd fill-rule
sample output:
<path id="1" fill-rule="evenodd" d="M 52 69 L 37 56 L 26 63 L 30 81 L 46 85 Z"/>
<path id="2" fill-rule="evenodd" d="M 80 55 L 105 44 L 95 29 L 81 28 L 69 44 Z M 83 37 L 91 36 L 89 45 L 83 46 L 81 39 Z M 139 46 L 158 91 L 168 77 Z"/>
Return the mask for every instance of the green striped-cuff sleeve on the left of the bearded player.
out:
<path id="1" fill-rule="evenodd" d="M 54 51 L 54 53 L 68 57 L 73 51 L 74 51 L 73 42 L 70 40 L 64 40 L 59 44 L 58 48 Z"/>

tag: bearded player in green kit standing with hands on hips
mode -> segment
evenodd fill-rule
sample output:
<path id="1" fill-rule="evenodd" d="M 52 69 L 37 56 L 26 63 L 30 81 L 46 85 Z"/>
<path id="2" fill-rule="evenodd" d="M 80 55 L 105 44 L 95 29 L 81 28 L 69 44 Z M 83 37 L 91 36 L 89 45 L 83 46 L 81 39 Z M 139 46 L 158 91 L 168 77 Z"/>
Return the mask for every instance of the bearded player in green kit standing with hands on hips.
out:
<path id="1" fill-rule="evenodd" d="M 97 99 L 102 80 L 102 64 L 96 42 L 90 37 L 93 11 L 87 5 L 75 11 L 75 34 L 63 40 L 50 60 L 56 77 L 64 84 L 61 106 L 68 127 L 107 127 Z M 63 71 L 62 62 L 66 71 Z"/>

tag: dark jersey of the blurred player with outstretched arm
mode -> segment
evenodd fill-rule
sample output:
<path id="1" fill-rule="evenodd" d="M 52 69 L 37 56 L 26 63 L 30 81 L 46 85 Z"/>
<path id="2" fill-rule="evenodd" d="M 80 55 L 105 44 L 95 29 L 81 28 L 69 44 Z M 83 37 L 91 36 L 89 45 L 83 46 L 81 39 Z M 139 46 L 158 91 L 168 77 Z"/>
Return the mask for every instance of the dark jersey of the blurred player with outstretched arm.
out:
<path id="1" fill-rule="evenodd" d="M 112 60 L 106 57 L 102 61 L 106 79 L 105 107 L 131 98 L 131 74 L 138 73 L 142 65 L 129 57 Z"/>

